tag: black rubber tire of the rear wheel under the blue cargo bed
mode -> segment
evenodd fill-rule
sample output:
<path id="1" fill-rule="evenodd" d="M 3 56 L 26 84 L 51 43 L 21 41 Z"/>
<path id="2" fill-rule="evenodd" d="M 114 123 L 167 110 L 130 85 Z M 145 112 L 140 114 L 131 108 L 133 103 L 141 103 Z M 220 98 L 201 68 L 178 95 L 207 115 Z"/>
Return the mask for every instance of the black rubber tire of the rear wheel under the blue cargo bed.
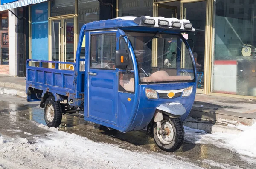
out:
<path id="1" fill-rule="evenodd" d="M 53 120 L 47 118 L 47 107 L 53 107 Z M 55 101 L 54 97 L 48 97 L 44 102 L 44 120 L 48 127 L 59 127 L 62 120 L 62 108 L 61 104 L 58 101 Z"/>

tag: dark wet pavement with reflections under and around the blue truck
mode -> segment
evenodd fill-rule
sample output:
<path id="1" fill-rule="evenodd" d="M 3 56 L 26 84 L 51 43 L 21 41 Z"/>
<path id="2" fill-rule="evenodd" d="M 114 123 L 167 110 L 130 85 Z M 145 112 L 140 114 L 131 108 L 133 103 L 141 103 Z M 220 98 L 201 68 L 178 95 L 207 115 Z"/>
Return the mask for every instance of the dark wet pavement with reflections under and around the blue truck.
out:
<path id="1" fill-rule="evenodd" d="M 0 135 L 10 138 L 27 138 L 31 144 L 36 137 L 46 137 L 49 130 L 40 128 L 35 123 L 45 124 L 43 109 L 38 105 L 39 102 L 27 103 L 26 98 L 0 95 Z M 164 152 L 156 146 L 153 138 L 146 135 L 145 130 L 128 133 L 108 130 L 106 127 L 84 121 L 77 114 L 64 115 L 60 130 L 81 135 L 95 142 L 114 144 L 131 151 L 146 153 L 153 151 L 161 155 L 174 155 L 177 159 L 194 163 L 202 168 L 217 169 L 225 166 L 256 169 L 256 158 L 245 157 L 228 149 L 185 141 L 177 152 Z"/>

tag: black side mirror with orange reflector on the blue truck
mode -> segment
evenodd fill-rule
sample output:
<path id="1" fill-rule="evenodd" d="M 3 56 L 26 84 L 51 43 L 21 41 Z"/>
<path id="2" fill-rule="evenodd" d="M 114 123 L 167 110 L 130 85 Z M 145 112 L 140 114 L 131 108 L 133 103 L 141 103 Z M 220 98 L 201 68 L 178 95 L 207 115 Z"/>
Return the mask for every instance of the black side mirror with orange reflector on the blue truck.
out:
<path id="1" fill-rule="evenodd" d="M 127 50 L 117 50 L 116 51 L 116 68 L 126 69 L 129 64 L 129 53 Z"/>

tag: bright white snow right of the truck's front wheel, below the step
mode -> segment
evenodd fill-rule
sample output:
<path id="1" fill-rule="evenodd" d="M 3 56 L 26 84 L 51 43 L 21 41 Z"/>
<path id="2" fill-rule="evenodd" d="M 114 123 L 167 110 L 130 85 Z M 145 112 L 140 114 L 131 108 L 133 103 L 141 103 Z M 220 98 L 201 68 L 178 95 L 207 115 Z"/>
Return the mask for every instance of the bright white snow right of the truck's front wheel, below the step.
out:
<path id="1" fill-rule="evenodd" d="M 236 126 L 232 126 L 236 127 Z M 213 133 L 185 127 L 185 140 L 195 144 L 213 144 L 219 148 L 230 149 L 241 155 L 256 157 L 256 123 L 253 126 L 237 126 L 239 134 Z"/>

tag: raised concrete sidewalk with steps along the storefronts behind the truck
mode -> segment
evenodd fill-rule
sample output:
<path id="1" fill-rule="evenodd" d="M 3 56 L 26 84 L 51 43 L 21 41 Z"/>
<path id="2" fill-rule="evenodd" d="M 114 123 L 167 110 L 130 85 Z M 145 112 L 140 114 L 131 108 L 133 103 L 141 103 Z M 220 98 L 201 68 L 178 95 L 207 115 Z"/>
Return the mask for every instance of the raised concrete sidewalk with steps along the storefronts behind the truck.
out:
<path id="1" fill-rule="evenodd" d="M 25 77 L 0 75 L 0 93 L 26 96 L 25 85 Z M 188 127 L 213 133 L 220 132 L 219 126 L 222 126 L 221 132 L 230 132 L 228 124 L 252 125 L 256 122 L 256 100 L 197 94 L 189 116 L 184 122 Z"/>

